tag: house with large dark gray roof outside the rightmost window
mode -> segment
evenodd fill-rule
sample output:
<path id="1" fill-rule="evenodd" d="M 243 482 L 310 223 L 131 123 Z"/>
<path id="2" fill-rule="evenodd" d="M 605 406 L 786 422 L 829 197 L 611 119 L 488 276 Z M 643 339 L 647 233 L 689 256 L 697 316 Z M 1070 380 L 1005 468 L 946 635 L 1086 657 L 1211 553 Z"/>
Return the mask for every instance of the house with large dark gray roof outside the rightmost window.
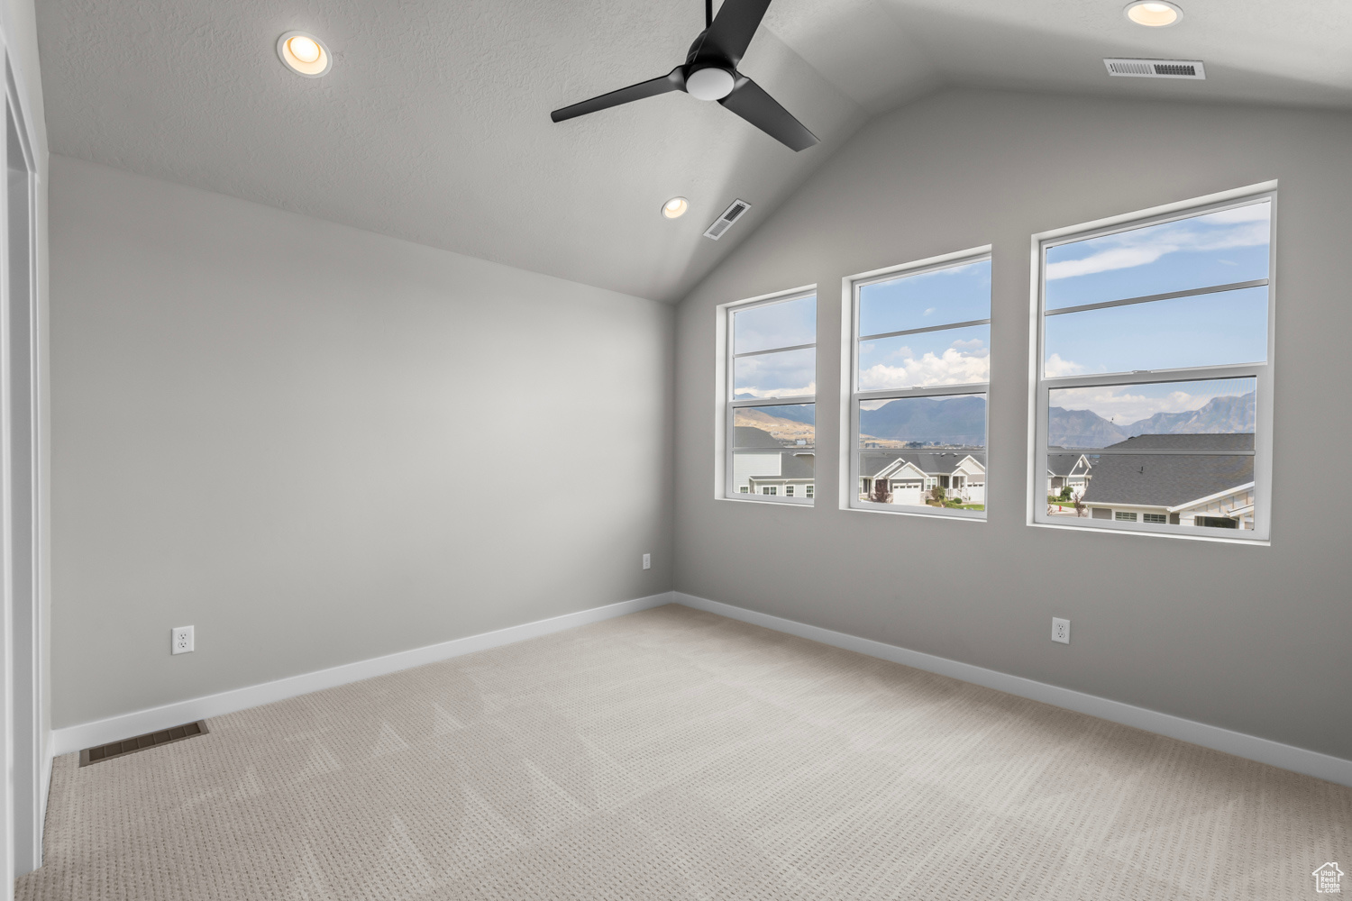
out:
<path id="1" fill-rule="evenodd" d="M 1253 450 L 1253 435 L 1137 435 L 1105 450 Z M 1253 528 L 1253 457 L 1101 454 L 1084 493 L 1092 519 Z"/>

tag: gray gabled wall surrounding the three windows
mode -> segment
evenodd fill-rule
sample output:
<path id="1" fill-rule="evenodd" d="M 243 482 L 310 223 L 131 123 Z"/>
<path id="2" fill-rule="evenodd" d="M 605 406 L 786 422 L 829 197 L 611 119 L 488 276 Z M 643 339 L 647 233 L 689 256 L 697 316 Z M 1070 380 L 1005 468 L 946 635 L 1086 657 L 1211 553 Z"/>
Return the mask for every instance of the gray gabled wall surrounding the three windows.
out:
<path id="1" fill-rule="evenodd" d="M 1271 547 L 1026 525 L 1029 235 L 1270 178 Z M 1347 113 L 955 91 L 871 123 L 680 304 L 677 590 L 1352 758 L 1349 234 Z M 986 243 L 990 520 L 841 511 L 841 278 Z M 817 507 L 715 500 L 714 307 L 813 282 Z"/>

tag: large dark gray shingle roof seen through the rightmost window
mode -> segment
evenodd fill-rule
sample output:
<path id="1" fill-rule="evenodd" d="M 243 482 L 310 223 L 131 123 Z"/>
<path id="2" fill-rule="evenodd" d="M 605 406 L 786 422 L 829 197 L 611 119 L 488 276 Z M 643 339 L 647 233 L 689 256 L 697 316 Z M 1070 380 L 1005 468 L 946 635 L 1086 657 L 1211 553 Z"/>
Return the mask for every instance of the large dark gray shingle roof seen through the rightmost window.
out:
<path id="1" fill-rule="evenodd" d="M 1249 450 L 1253 435 L 1138 435 L 1111 447 Z M 1178 507 L 1253 481 L 1253 458 L 1237 454 L 1103 454 L 1094 463 L 1090 504 Z"/>

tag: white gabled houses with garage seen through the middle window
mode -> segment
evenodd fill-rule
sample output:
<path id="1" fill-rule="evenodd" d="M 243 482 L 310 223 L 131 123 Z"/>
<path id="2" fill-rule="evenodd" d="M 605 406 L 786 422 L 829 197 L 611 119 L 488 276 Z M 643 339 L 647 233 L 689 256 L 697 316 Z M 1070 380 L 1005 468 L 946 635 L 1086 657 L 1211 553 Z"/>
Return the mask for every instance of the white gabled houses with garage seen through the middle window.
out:
<path id="1" fill-rule="evenodd" d="M 859 498 L 886 482 L 892 504 L 923 507 L 934 488 L 965 504 L 986 504 L 986 448 L 868 450 L 860 455 Z"/>

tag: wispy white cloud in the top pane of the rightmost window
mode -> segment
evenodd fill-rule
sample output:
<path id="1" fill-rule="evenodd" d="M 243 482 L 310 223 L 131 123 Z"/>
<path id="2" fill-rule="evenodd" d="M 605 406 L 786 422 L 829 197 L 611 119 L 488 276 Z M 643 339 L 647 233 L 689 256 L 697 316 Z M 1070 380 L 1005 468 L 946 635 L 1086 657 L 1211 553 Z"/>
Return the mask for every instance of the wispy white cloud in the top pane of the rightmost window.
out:
<path id="1" fill-rule="evenodd" d="M 1222 219 L 1222 216 L 1226 217 Z M 1052 281 L 1114 269 L 1146 266 L 1165 254 L 1180 250 L 1206 251 L 1226 250 L 1229 247 L 1256 247 L 1265 244 L 1270 238 L 1265 204 L 1261 204 L 1260 211 L 1255 211 L 1252 207 L 1240 207 L 1238 209 L 1211 213 L 1206 217 L 1206 224 L 1230 227 L 1198 230 L 1184 219 L 1168 226 L 1106 235 L 1090 242 L 1091 246 L 1103 247 L 1098 253 L 1092 253 L 1083 259 L 1063 259 L 1048 263 L 1046 278 Z"/>

